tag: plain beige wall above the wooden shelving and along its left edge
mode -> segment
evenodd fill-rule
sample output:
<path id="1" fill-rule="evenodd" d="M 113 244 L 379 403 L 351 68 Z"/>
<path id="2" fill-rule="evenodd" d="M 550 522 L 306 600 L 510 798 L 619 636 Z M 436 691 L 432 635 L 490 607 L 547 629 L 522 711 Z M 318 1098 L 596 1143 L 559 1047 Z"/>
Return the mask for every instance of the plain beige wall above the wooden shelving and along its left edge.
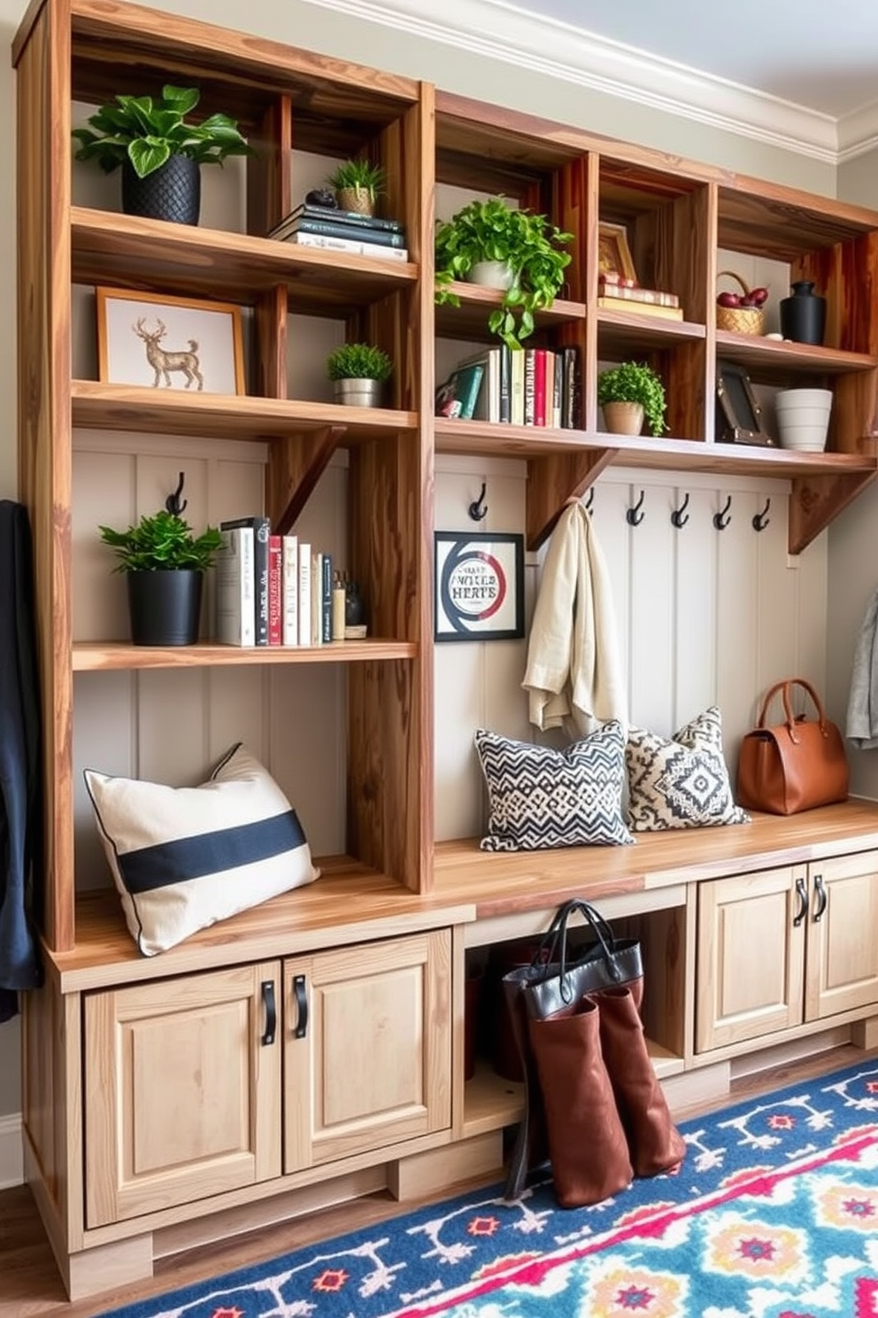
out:
<path id="1" fill-rule="evenodd" d="M 161 5 L 159 5 L 161 8 Z M 778 182 L 835 192 L 835 170 L 804 156 L 754 144 L 688 119 L 602 96 L 548 75 L 433 45 L 405 33 L 336 14 L 300 0 L 176 0 L 165 8 L 190 17 L 246 29 L 265 37 L 357 59 L 483 100 L 577 124 L 608 136 L 704 159 Z M 0 34 L 8 50 L 24 12 L 20 0 L 0 0 Z M 128 90 L 128 88 L 120 88 Z M 14 123 L 14 74 L 0 61 L 0 115 Z M 0 134 L 0 497 L 16 496 L 14 459 L 14 134 Z M 0 1027 L 0 1118 L 20 1106 L 18 1029 Z"/>

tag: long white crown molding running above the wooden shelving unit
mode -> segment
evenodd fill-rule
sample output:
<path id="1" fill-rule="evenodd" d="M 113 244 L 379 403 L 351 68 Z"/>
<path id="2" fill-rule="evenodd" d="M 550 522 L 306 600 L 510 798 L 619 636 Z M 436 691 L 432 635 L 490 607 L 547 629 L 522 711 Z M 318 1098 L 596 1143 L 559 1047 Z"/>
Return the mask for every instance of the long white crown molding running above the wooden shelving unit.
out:
<path id="1" fill-rule="evenodd" d="M 444 0 L 441 21 L 428 14 L 425 0 L 308 3 L 837 163 L 837 123 L 831 115 L 525 13 L 507 0 Z"/>

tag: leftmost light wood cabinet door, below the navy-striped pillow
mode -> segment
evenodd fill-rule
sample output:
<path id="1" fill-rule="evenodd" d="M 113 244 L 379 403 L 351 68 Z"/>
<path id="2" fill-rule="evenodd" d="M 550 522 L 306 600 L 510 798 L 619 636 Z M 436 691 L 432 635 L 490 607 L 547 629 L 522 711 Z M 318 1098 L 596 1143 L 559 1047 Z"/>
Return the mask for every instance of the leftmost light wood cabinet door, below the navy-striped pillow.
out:
<path id="1" fill-rule="evenodd" d="M 90 1227 L 280 1174 L 279 991 L 274 961 L 86 999 Z"/>

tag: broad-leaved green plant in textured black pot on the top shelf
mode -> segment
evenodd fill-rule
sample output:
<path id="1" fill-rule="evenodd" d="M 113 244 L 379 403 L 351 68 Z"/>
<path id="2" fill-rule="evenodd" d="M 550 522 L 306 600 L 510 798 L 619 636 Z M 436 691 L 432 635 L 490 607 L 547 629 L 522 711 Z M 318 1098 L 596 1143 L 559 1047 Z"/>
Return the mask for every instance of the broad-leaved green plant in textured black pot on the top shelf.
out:
<path id="1" fill-rule="evenodd" d="M 200 166 L 255 154 L 228 115 L 190 123 L 186 116 L 199 100 L 196 87 L 171 86 L 157 99 L 116 96 L 91 116 L 90 128 L 74 128 L 75 158 L 95 159 L 107 174 L 121 166 L 126 215 L 197 224 Z"/>

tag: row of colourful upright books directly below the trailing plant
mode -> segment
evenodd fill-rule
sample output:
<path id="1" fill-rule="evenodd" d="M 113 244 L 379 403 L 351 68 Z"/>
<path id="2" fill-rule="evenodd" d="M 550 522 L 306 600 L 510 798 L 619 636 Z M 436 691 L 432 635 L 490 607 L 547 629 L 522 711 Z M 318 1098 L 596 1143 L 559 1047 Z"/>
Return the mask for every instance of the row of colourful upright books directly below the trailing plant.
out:
<path id="1" fill-rule="evenodd" d="M 505 344 L 458 362 L 436 391 L 436 415 L 578 430 L 582 374 L 579 349 Z"/>

